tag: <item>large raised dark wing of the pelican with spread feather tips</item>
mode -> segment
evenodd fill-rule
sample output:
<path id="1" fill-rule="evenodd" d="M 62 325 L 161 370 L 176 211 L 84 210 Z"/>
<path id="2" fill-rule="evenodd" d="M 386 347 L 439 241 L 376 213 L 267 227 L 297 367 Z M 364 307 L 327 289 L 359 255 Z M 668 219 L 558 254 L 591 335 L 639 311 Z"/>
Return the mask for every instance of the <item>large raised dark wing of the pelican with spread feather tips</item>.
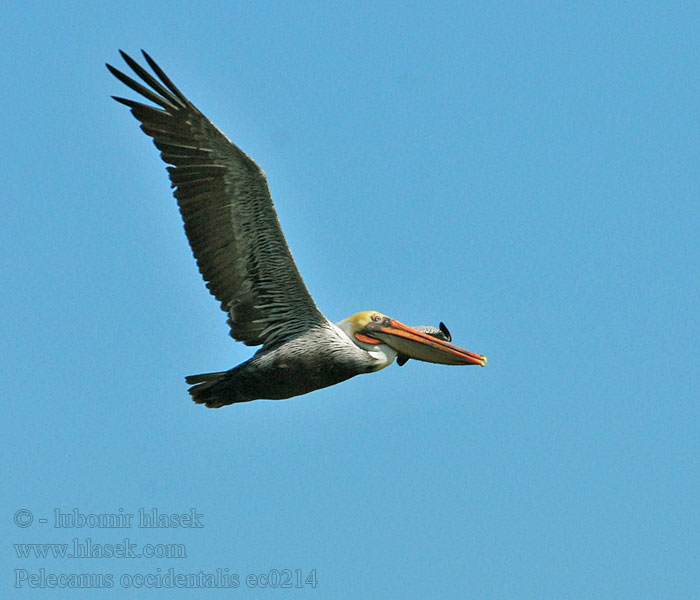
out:
<path id="1" fill-rule="evenodd" d="M 168 172 L 187 239 L 207 288 L 229 314 L 231 335 L 249 346 L 268 345 L 325 323 L 284 239 L 262 169 L 146 52 L 157 79 L 121 55 L 148 87 L 107 68 L 157 106 L 113 98 L 131 109 L 172 165 Z"/>

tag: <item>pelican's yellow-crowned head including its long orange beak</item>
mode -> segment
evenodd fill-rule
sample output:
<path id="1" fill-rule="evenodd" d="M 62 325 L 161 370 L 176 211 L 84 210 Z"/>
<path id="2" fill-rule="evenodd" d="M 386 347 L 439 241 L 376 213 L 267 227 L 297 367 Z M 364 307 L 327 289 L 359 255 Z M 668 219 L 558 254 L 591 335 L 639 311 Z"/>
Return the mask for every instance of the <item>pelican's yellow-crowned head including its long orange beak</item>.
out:
<path id="1" fill-rule="evenodd" d="M 390 364 L 396 355 L 402 354 L 408 358 L 443 365 L 486 365 L 485 356 L 404 325 L 376 310 L 359 312 L 338 325 L 363 350 L 387 355 L 386 364 Z"/>

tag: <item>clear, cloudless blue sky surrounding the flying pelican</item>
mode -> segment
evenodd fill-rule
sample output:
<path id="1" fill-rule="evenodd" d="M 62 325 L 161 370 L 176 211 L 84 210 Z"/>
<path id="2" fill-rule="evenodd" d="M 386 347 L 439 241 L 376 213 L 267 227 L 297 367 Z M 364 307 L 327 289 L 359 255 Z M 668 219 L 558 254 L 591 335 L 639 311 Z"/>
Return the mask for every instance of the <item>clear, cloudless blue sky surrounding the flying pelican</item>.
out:
<path id="1" fill-rule="evenodd" d="M 4 10 L 3 597 L 696 594 L 698 6 L 222 4 Z M 252 349 L 109 98 L 129 95 L 104 68 L 118 48 L 145 48 L 266 171 L 330 319 L 444 321 L 488 366 L 194 405 L 185 375 Z M 152 508 L 204 526 L 52 526 Z M 125 537 L 186 557 L 14 546 Z M 31 587 L 42 569 L 114 585 Z M 169 569 L 240 586 L 120 583 Z M 274 569 L 318 585 L 247 586 Z"/>

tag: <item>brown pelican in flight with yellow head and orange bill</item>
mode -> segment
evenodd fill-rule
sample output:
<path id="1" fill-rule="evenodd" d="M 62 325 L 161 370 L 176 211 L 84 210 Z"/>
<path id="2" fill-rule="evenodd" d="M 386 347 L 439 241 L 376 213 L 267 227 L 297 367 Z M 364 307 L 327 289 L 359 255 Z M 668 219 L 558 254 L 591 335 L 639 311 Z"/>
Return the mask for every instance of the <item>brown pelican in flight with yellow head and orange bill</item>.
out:
<path id="1" fill-rule="evenodd" d="M 121 52 L 121 51 L 120 51 Z M 157 106 L 113 96 L 153 138 L 207 288 L 228 314 L 231 336 L 262 345 L 229 371 L 190 375 L 192 399 L 210 408 L 277 400 L 379 371 L 398 357 L 446 365 L 486 364 L 453 345 L 447 328 L 408 327 L 377 311 L 331 323 L 316 307 L 277 219 L 262 169 L 175 87 L 146 52 L 154 77 L 121 52 L 146 84 L 110 72 Z"/>

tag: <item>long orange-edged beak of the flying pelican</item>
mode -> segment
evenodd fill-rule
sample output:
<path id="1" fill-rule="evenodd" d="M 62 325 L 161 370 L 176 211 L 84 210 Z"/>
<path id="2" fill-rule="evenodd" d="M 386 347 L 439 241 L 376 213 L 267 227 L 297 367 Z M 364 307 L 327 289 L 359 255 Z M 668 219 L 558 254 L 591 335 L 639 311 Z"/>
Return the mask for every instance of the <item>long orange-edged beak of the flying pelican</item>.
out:
<path id="1" fill-rule="evenodd" d="M 394 319 L 389 319 L 388 325 L 386 321 L 377 325 L 370 324 L 365 330 L 409 358 L 441 365 L 486 366 L 485 356 L 474 354 Z"/>

